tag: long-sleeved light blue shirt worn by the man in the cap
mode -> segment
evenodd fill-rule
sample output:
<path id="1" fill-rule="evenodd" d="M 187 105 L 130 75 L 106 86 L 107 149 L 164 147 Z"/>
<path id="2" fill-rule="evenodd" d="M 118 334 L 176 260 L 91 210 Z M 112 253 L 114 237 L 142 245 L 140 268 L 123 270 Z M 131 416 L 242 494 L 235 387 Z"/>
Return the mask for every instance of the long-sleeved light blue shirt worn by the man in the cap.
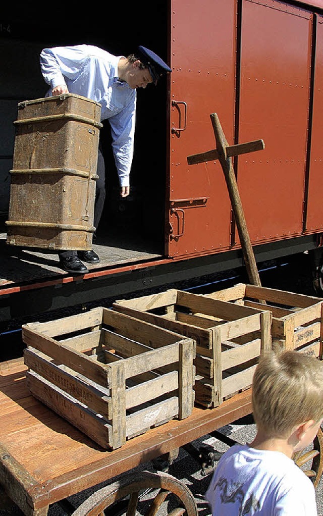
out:
<path id="1" fill-rule="evenodd" d="M 40 67 L 50 91 L 66 85 L 70 93 L 101 104 L 101 120 L 108 119 L 111 127 L 120 186 L 128 186 L 134 152 L 136 90 L 118 78 L 120 57 L 92 45 L 54 47 L 41 52 Z"/>

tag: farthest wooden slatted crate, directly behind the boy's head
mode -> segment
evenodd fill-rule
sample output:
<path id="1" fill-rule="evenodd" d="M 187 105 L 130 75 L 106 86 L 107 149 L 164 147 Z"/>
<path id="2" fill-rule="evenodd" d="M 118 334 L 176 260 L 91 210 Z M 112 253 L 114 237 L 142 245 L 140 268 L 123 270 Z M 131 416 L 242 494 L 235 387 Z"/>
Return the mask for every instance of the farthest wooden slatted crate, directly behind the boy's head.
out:
<path id="1" fill-rule="evenodd" d="M 259 303 L 264 300 L 272 313 L 273 349 L 297 349 L 322 359 L 322 299 L 244 283 L 206 297 L 256 309 L 264 309 Z"/>

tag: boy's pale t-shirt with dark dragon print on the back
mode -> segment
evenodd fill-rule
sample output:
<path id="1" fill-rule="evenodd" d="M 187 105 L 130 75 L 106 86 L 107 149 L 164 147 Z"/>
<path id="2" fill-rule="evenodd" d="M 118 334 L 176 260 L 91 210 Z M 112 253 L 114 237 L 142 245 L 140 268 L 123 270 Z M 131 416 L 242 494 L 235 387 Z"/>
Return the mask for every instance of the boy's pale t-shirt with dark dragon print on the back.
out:
<path id="1" fill-rule="evenodd" d="M 225 452 L 205 498 L 214 516 L 317 516 L 314 486 L 293 460 L 248 445 Z"/>

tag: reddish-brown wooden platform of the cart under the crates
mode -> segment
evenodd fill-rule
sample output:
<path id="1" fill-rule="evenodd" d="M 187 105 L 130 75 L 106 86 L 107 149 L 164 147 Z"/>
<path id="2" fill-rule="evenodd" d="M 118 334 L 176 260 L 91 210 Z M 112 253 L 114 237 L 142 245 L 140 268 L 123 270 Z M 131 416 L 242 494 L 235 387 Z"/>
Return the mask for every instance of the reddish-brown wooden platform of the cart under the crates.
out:
<path id="1" fill-rule="evenodd" d="M 105 451 L 31 396 L 25 372 L 22 359 L 0 364 L 0 487 L 27 516 L 251 413 L 249 389 Z"/>

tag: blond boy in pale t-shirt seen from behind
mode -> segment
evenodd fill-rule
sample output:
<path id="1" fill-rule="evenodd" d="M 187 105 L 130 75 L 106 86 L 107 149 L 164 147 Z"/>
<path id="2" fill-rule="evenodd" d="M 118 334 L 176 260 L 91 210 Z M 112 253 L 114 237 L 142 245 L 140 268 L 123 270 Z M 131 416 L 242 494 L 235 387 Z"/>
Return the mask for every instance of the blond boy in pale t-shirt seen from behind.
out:
<path id="1" fill-rule="evenodd" d="M 206 499 L 214 516 L 317 516 L 311 480 L 293 454 L 316 436 L 323 416 L 323 363 L 296 351 L 265 354 L 252 388 L 254 441 L 220 459 Z"/>

